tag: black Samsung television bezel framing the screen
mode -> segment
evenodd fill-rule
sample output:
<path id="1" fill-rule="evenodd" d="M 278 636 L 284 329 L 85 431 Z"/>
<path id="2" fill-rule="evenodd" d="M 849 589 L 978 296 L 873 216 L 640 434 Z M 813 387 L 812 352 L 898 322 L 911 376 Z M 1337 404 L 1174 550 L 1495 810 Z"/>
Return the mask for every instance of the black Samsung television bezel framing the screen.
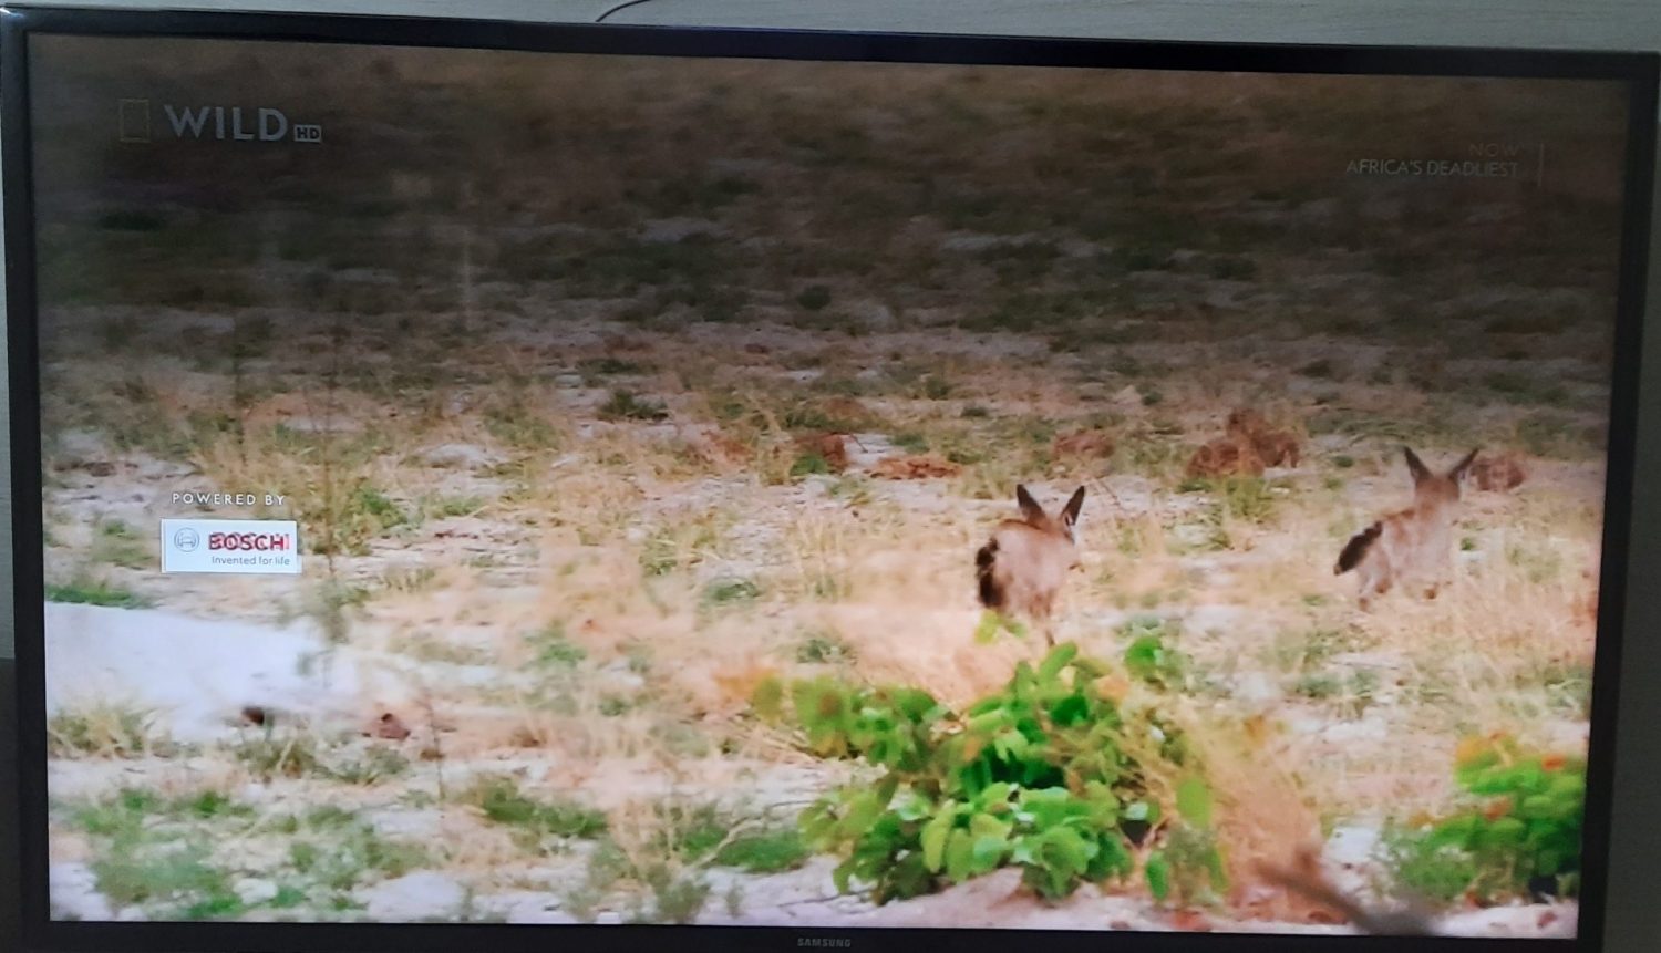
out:
<path id="1" fill-rule="evenodd" d="M 169 37 L 435 46 L 543 53 L 960 63 L 1075 68 L 1191 70 L 1213 73 L 1325 73 L 1380 76 L 1493 76 L 1608 80 L 1628 88 L 1624 214 L 1621 222 L 1614 367 L 1605 485 L 1598 646 L 1586 784 L 1578 935 L 1535 938 L 1404 938 L 1264 933 L 1133 933 L 1093 930 L 600 926 L 447 923 L 115 923 L 56 921 L 48 907 L 47 719 L 40 393 L 35 301 L 28 40 L 33 35 Z M 1342 946 L 1352 953 L 1590 953 L 1601 950 L 1608 895 L 1614 712 L 1626 616 L 1628 543 L 1634 485 L 1639 340 L 1649 244 L 1661 55 L 1472 46 L 1335 46 L 1181 43 L 933 33 L 620 27 L 465 18 L 309 13 L 131 12 L 0 8 L 0 134 L 5 164 L 5 274 L 10 365 L 13 619 L 17 631 L 18 752 L 22 777 L 22 926 L 27 950 L 133 953 L 447 953 L 488 943 L 502 953 L 540 953 L 550 941 L 595 953 L 678 943 L 689 953 L 774 951 L 797 946 L 859 950 L 997 950 L 1008 938 L 1043 938 L 1056 953 L 1108 941 L 1128 953 L 1269 953 Z M 25 558 L 27 556 L 27 558 Z M 1631 726 L 1628 731 L 1636 731 Z M 1111 936 L 1111 938 L 1110 938 Z"/>

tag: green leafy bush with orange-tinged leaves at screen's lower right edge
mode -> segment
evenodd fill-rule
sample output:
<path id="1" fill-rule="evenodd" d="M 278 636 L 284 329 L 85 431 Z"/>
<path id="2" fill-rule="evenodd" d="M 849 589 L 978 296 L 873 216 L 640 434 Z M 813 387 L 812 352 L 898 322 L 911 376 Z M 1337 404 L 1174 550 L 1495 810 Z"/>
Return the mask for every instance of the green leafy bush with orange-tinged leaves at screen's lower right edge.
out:
<path id="1" fill-rule="evenodd" d="M 1585 759 L 1528 752 L 1508 736 L 1490 736 L 1460 745 L 1455 779 L 1467 807 L 1387 838 L 1404 888 L 1480 903 L 1580 893 Z"/>

